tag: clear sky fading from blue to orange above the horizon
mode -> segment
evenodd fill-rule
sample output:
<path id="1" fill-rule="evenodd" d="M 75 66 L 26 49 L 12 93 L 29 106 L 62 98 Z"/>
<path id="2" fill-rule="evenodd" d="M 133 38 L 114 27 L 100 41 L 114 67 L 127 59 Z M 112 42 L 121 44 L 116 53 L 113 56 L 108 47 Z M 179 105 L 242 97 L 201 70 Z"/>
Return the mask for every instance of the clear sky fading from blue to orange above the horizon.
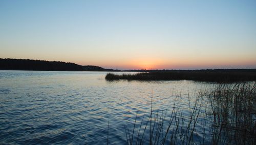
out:
<path id="1" fill-rule="evenodd" d="M 0 58 L 256 68 L 256 1 L 0 0 Z"/>

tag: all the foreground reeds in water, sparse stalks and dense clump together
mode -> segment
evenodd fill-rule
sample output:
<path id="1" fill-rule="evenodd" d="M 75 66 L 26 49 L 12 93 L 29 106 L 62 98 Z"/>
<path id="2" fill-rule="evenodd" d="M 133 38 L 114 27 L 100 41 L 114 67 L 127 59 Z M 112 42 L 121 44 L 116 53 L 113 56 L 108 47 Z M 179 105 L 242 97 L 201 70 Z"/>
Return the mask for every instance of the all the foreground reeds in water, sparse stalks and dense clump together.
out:
<path id="1" fill-rule="evenodd" d="M 153 110 L 151 97 L 150 114 L 136 115 L 125 128 L 127 144 L 255 144 L 255 82 L 216 84 L 215 90 L 199 92 L 194 104 L 188 96 L 188 114 L 182 114 L 179 97 L 171 112 Z"/>

